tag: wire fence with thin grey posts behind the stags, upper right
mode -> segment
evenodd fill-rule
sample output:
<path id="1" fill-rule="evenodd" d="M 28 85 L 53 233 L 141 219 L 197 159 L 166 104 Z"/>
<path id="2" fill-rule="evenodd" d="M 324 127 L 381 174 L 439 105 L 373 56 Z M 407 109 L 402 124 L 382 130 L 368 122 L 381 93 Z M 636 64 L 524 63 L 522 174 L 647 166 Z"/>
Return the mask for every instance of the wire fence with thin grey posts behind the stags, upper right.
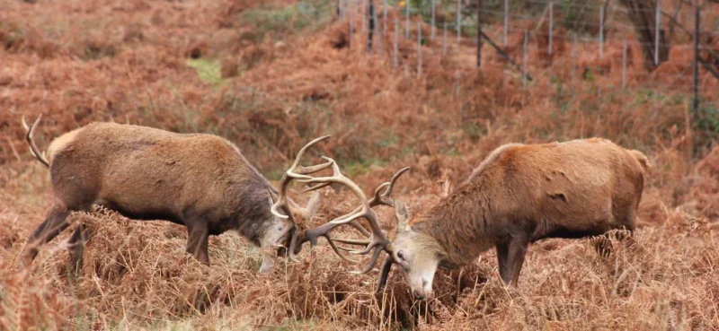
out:
<path id="1" fill-rule="evenodd" d="M 398 57 L 402 57 L 397 46 L 399 40 L 416 39 L 417 65 L 415 69 L 404 65 L 405 75 L 414 70 L 414 74 L 422 76 L 422 57 L 427 57 L 422 55 L 422 48 L 437 48 L 430 54 L 446 56 L 449 51 L 470 54 L 474 47 L 476 66 L 480 69 L 510 65 L 527 88 L 534 84 L 535 72 L 545 75 L 548 72 L 571 84 L 572 95 L 596 94 L 598 109 L 602 99 L 611 97 L 612 93 L 639 88 L 652 89 L 655 93 L 685 93 L 692 99 L 692 109 L 696 113 L 702 100 L 700 74 L 710 71 L 719 79 L 716 72 L 719 65 L 707 63 L 702 54 L 719 56 L 711 45 L 704 45 L 700 40 L 702 36 L 716 33 L 715 30 L 702 30 L 700 23 L 703 10 L 713 14 L 715 8 L 705 10 L 699 5 L 682 5 L 681 2 L 679 6 L 662 8 L 661 1 L 655 2 L 653 8 L 631 10 L 620 4 L 575 4 L 558 0 L 531 0 L 520 4 L 494 0 L 487 3 L 483 5 L 482 0 L 338 0 L 337 13 L 340 20 L 350 21 L 351 34 L 359 32 L 368 36 L 366 45 L 351 45 L 352 48 L 367 48 L 370 54 L 392 52 L 391 63 L 395 69 L 400 65 Z M 518 5 L 531 8 L 522 12 L 517 10 Z M 535 13 L 530 13 L 532 10 Z M 578 17 L 578 13 L 573 13 L 570 17 L 572 11 L 581 11 L 581 15 Z M 645 27 L 633 24 L 633 12 L 649 14 L 653 24 Z M 579 23 L 583 30 L 576 29 Z M 425 31 L 429 27 L 429 33 L 423 35 L 423 27 Z M 394 45 L 382 45 L 381 38 L 373 39 L 373 36 L 386 36 L 387 31 L 393 30 Z M 641 33 L 648 33 L 652 41 L 637 38 Z M 485 58 L 483 61 L 486 45 L 494 48 L 502 60 Z M 644 58 L 648 56 L 643 52 L 650 52 L 651 58 Z M 660 70 L 659 66 L 669 60 L 669 52 L 680 60 L 672 59 L 671 68 L 661 69 L 662 77 L 656 79 L 652 71 Z M 555 58 L 559 55 L 563 57 Z M 567 60 L 569 58 L 571 61 Z M 644 62 L 647 63 L 638 64 Z M 585 83 L 591 82 L 588 75 L 602 74 L 608 70 L 605 67 L 618 68 L 612 70 L 620 72 L 620 83 Z M 461 98 L 460 71 L 457 71 L 456 79 L 457 98 Z M 711 91 L 704 93 L 711 94 Z M 461 102 L 458 108 L 463 113 Z"/>

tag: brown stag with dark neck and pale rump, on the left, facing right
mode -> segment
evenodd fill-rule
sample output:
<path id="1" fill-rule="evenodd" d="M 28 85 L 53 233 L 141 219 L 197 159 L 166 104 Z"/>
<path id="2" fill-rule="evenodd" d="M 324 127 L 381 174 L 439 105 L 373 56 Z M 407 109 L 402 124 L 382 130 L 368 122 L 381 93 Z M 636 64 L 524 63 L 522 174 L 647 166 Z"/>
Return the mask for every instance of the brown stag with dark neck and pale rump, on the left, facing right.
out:
<path id="1" fill-rule="evenodd" d="M 269 250 L 297 237 L 295 217 L 271 213 L 277 190 L 245 160 L 239 149 L 216 135 L 182 135 L 146 126 L 92 123 L 60 135 L 47 153 L 40 152 L 32 135 L 40 122 L 28 126 L 26 140 L 31 153 L 49 168 L 54 204 L 49 215 L 32 232 L 25 255 L 27 263 L 41 245 L 57 237 L 69 225 L 67 216 L 100 205 L 136 220 L 164 220 L 184 225 L 186 251 L 209 264 L 208 238 L 228 230 L 238 231 L 262 248 L 259 272 L 271 270 Z M 300 154 L 304 153 L 304 149 Z M 304 169 L 312 173 L 331 163 Z M 302 208 L 283 199 L 284 213 L 309 220 L 319 196 Z M 71 262 L 82 265 L 84 224 L 69 240 Z M 77 271 L 77 269 L 75 270 Z"/>

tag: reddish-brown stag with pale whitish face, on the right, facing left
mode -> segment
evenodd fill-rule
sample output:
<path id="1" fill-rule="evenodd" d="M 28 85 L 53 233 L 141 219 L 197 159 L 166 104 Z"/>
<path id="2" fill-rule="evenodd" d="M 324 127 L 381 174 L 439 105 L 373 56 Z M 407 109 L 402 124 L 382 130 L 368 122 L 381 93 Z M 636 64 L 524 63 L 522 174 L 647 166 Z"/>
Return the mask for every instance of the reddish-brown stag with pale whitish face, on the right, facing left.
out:
<path id="1" fill-rule="evenodd" d="M 371 271 L 385 251 L 388 256 L 380 267 L 377 292 L 385 286 L 391 267 L 398 265 L 419 300 L 431 296 L 438 268 L 466 266 L 490 248 L 497 249 L 502 281 L 516 286 L 531 242 L 599 236 L 618 229 L 631 234 L 649 169 L 642 152 L 605 139 L 503 145 L 465 183 L 413 222 L 407 206 L 394 201 L 397 233 L 391 241 L 379 227 L 373 204 L 334 162 L 332 166 L 333 176 L 302 181 L 315 187 L 331 183 L 350 187 L 361 206 L 306 230 L 305 238 L 313 245 L 324 236 L 333 246 L 333 241 L 364 246 L 350 251 L 372 252 L 363 273 Z M 334 228 L 359 218 L 368 221 L 370 240 L 330 238 Z"/>

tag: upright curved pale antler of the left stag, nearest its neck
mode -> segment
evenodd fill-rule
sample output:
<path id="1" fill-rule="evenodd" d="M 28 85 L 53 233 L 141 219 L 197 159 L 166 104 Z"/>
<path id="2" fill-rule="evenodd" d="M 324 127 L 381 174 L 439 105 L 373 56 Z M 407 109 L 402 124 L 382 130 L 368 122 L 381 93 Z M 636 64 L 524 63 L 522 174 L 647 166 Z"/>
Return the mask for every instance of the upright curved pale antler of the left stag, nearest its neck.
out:
<path id="1" fill-rule="evenodd" d="M 285 174 L 282 175 L 282 179 L 280 179 L 280 196 L 271 207 L 272 214 L 282 219 L 289 218 L 294 223 L 293 230 L 291 231 L 291 239 L 289 240 L 289 248 L 287 250 L 288 258 L 293 262 L 297 262 L 297 257 L 295 257 L 295 246 L 297 245 L 297 222 L 295 221 L 295 217 L 292 215 L 291 208 L 288 205 L 288 185 L 294 179 L 312 179 L 312 177 L 307 175 L 325 170 L 333 164 L 333 162 L 326 162 L 310 167 L 303 167 L 300 164 L 302 156 L 310 147 L 329 137 L 329 135 L 324 135 L 319 138 L 315 138 L 315 140 L 307 143 L 305 147 L 302 147 L 302 149 L 297 152 L 295 162 L 292 163 L 292 166 L 289 167 Z M 282 210 L 282 213 L 280 213 L 280 209 Z"/>

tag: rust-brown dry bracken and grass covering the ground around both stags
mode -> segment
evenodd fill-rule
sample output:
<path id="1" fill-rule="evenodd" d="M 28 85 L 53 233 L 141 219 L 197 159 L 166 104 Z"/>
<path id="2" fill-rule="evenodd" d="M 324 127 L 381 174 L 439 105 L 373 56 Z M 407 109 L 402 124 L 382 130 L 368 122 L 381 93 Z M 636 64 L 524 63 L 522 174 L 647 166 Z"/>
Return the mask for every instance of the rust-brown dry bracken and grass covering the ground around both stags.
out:
<path id="1" fill-rule="evenodd" d="M 535 80 L 525 89 L 491 48 L 477 73 L 471 43 L 443 57 L 440 41 L 428 40 L 416 77 L 411 40 L 400 40 L 396 71 L 387 52 L 347 48 L 348 23 L 327 19 L 332 1 L 303 2 L 330 4 L 317 13 L 294 1 L 256 3 L 0 0 L 0 329 L 719 329 L 719 83 L 701 75 L 705 102 L 693 118 L 688 40 L 673 40 L 681 47 L 652 74 L 633 49 L 626 91 L 616 88 L 616 40 L 631 31 L 612 30 L 602 60 L 596 45 L 581 44 L 577 85 L 571 47 L 558 39 L 547 58 L 533 40 L 530 58 L 541 63 L 530 63 Z M 510 42 L 519 55 L 521 31 Z M 227 233 L 210 240 L 213 264 L 201 266 L 184 253 L 182 227 L 103 210 L 71 216 L 93 230 L 74 278 L 70 230 L 30 268 L 18 264 L 52 198 L 48 171 L 22 140 L 21 116 L 39 114 L 42 146 L 90 121 L 129 120 L 225 136 L 270 179 L 308 140 L 331 134 L 318 149 L 367 190 L 413 166 L 395 193 L 413 213 L 509 142 L 604 136 L 646 153 L 653 170 L 635 246 L 614 242 L 615 254 L 599 257 L 588 240 L 537 243 L 517 289 L 502 285 L 493 251 L 440 273 L 437 299 L 424 303 L 395 273 L 375 296 L 377 273 L 348 274 L 358 266 L 326 246 L 258 275 L 257 249 Z M 325 192 L 319 218 L 353 208 L 343 196 Z M 381 210 L 389 231 L 391 215 Z"/>

